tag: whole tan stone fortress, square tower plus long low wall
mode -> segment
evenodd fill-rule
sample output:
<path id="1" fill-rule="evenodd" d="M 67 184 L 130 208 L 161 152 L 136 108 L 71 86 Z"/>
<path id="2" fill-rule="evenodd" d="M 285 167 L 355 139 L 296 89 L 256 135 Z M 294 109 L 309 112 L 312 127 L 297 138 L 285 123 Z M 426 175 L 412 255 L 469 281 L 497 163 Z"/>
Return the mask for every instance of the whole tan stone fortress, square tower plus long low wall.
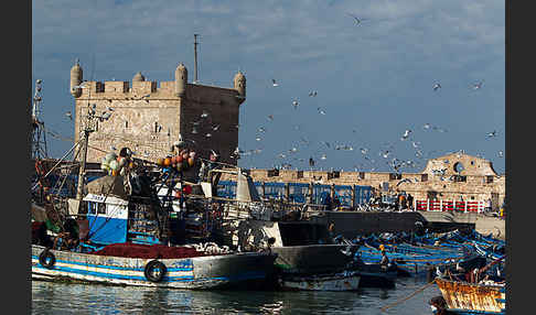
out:
<path id="1" fill-rule="evenodd" d="M 89 106 L 97 112 L 111 108 L 109 120 L 97 121 L 89 137 L 87 161 L 99 163 L 110 151 L 127 146 L 149 161 L 165 158 L 179 134 L 194 141 L 199 156 L 211 151 L 219 161 L 237 165 L 232 154 L 238 145 L 239 106 L 246 99 L 246 78 L 238 72 L 232 88 L 189 83 L 187 69 L 179 64 L 172 82 L 146 82 L 137 73 L 132 82 L 85 82 L 76 63 L 71 69 L 75 98 L 75 141 L 81 139 Z M 193 143 L 193 142 L 192 142 Z M 492 200 L 497 209 L 505 198 L 505 176 L 490 161 L 452 153 L 428 161 L 421 173 L 249 170 L 256 182 L 372 186 L 385 193 L 406 192 L 416 200 Z M 233 180 L 223 176 L 224 180 Z M 332 189 L 333 193 L 333 189 Z"/>

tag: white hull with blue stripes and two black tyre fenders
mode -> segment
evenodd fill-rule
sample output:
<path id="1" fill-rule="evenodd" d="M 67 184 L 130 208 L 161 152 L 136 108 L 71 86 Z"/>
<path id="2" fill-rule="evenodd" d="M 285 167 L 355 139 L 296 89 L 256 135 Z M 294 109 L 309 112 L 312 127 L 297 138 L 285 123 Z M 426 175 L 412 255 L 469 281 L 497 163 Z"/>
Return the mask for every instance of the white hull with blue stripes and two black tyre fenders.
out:
<path id="1" fill-rule="evenodd" d="M 43 250 L 44 247 L 32 246 L 32 279 L 193 290 L 261 285 L 271 276 L 276 259 L 275 254 L 257 252 L 159 259 L 167 271 L 160 281 L 153 282 L 144 273 L 153 259 L 49 250 L 55 262 L 47 268 L 39 260 Z"/>

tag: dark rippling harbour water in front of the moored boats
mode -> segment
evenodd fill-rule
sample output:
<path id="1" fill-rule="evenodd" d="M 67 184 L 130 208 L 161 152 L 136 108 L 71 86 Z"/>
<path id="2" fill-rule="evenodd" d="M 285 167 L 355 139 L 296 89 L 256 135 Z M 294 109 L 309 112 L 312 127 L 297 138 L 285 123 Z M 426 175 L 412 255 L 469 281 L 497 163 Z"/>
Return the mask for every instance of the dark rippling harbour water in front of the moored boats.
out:
<path id="1" fill-rule="evenodd" d="M 431 314 L 425 279 L 356 292 L 185 291 L 32 281 L 32 314 Z M 386 312 L 380 308 L 395 304 Z"/>

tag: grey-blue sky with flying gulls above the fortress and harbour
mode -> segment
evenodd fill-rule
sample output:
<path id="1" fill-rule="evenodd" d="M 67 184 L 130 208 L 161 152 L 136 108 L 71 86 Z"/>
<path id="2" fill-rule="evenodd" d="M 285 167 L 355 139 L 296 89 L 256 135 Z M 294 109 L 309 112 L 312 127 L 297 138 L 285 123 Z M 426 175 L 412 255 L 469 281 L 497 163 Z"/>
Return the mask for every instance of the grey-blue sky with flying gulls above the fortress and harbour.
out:
<path id="1" fill-rule="evenodd" d="M 63 137 L 74 137 L 64 113 L 74 109 L 68 87 L 76 58 L 85 79 L 131 80 L 141 70 L 150 80 L 172 80 L 182 62 L 191 80 L 199 33 L 202 84 L 231 87 L 238 69 L 247 78 L 239 148 L 257 153 L 244 155 L 240 166 L 309 170 L 313 158 L 315 169 L 392 171 L 397 159 L 407 164 L 403 172 L 419 172 L 427 159 L 464 150 L 504 172 L 504 1 L 32 6 L 32 80 L 43 80 L 45 127 Z M 441 88 L 433 90 L 436 83 Z M 486 135 L 493 131 L 496 137 Z M 54 158 L 72 145 L 50 134 L 47 141 Z"/>

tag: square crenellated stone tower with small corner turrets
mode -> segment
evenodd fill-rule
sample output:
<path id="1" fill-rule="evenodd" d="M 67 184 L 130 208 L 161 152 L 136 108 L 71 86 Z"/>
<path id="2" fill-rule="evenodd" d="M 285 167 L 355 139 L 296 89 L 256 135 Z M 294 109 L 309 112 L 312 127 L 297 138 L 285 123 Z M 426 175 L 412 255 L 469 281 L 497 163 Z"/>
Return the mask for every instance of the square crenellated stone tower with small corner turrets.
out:
<path id="1" fill-rule="evenodd" d="M 147 82 L 139 72 L 132 82 L 85 82 L 76 63 L 71 69 L 71 94 L 75 99 L 75 141 L 81 139 L 88 106 L 97 115 L 112 109 L 106 121 L 97 121 L 89 138 L 88 162 L 100 162 L 111 146 L 130 148 L 137 156 L 150 161 L 165 158 L 182 137 L 201 158 L 211 150 L 222 162 L 231 159 L 238 145 L 239 106 L 246 99 L 246 78 L 237 73 L 233 88 L 190 84 L 181 63 L 172 82 Z"/>

